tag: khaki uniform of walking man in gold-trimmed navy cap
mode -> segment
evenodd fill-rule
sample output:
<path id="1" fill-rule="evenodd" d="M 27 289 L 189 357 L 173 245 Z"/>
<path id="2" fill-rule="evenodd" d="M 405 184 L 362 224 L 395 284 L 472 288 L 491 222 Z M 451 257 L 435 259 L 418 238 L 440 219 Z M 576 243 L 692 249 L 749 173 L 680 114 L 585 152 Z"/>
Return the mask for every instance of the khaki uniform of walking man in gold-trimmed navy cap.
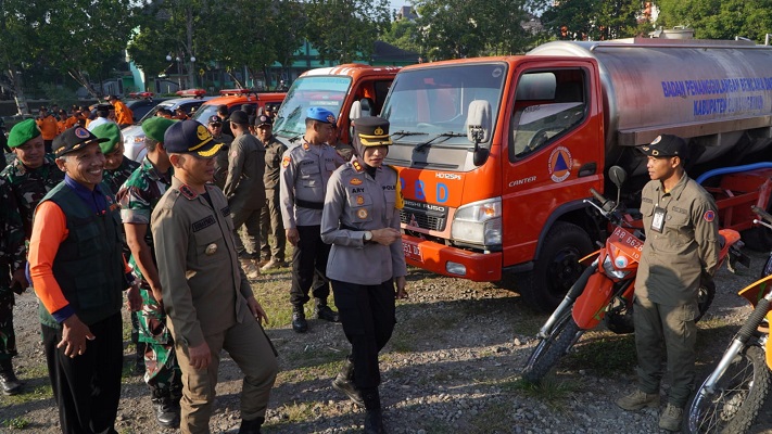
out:
<path id="1" fill-rule="evenodd" d="M 236 260 L 228 202 L 206 186 L 210 202 L 173 178 L 152 214 L 155 256 L 167 326 L 182 370 L 182 433 L 208 433 L 220 349 L 244 372 L 241 418 L 265 417 L 276 380 L 276 355 L 246 298 L 252 289 Z M 205 370 L 190 367 L 188 347 L 204 341 L 212 350 Z"/>

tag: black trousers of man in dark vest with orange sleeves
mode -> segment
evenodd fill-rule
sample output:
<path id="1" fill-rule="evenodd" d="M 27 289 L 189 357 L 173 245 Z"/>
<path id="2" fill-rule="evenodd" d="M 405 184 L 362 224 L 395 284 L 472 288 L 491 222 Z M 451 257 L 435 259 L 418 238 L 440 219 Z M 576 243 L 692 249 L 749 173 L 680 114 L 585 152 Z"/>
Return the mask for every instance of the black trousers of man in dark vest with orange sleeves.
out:
<path id="1" fill-rule="evenodd" d="M 75 358 L 56 348 L 62 330 L 41 326 L 48 375 L 65 434 L 114 434 L 121 400 L 123 323 L 121 314 L 89 326 L 97 336 Z"/>

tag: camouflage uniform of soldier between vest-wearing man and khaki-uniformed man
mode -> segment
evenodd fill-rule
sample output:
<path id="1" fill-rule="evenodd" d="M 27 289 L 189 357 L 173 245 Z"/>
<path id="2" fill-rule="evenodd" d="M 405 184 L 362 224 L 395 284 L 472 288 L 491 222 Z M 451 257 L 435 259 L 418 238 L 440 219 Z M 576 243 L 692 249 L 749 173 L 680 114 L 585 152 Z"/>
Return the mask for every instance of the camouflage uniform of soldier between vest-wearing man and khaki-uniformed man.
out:
<path id="1" fill-rule="evenodd" d="M 150 215 L 170 184 L 170 169 L 168 174 L 160 174 L 145 156 L 139 168 L 131 174 L 115 195 L 121 204 L 121 218 L 124 224 L 148 225 L 144 241 L 151 251 L 153 238 L 149 227 Z M 140 280 L 142 295 L 142 310 L 137 317 L 139 342 L 148 344 L 144 352 L 144 381 L 152 388 L 181 391 L 179 366 L 175 357 L 172 335 L 166 328 L 166 315 L 152 297 L 150 284 L 142 277 L 134 255 L 129 258 L 129 266 L 134 276 Z"/>

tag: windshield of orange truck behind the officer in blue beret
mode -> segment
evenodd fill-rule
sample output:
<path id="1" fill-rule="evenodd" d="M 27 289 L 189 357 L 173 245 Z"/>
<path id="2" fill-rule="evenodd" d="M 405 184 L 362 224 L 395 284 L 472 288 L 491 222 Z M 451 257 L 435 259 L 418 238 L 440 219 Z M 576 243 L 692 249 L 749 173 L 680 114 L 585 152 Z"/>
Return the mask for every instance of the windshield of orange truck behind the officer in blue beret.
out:
<path id="1" fill-rule="evenodd" d="M 295 137 L 305 132 L 305 111 L 321 106 L 340 117 L 351 77 L 306 76 L 292 84 L 274 122 L 274 133 Z"/>

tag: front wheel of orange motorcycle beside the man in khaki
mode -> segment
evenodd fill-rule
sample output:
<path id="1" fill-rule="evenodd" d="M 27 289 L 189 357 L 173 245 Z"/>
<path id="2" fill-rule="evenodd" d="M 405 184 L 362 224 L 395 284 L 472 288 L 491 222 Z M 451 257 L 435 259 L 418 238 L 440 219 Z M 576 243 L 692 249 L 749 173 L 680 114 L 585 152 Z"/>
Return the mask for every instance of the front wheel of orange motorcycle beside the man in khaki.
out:
<path id="1" fill-rule="evenodd" d="M 553 367 L 566 355 L 568 348 L 584 333 L 571 316 L 571 310 L 558 318 L 553 332 L 539 342 L 522 370 L 523 380 L 539 384 Z"/>

